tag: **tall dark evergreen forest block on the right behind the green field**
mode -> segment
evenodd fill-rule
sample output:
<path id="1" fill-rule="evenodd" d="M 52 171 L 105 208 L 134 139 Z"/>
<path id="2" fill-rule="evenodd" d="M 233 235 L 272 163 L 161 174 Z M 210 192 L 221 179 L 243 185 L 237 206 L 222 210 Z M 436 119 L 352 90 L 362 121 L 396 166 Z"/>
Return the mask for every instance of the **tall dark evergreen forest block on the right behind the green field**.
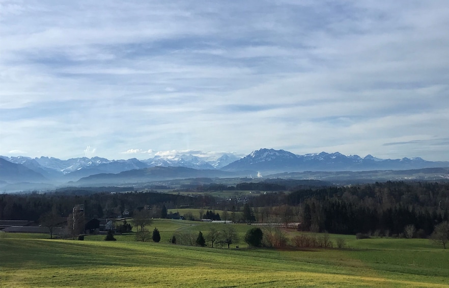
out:
<path id="1" fill-rule="evenodd" d="M 307 231 L 389 236 L 403 233 L 407 225 L 413 225 L 419 236 L 426 237 L 449 216 L 449 183 L 387 181 L 301 189 L 260 195 L 251 198 L 250 204 L 299 207 L 299 220 Z"/>

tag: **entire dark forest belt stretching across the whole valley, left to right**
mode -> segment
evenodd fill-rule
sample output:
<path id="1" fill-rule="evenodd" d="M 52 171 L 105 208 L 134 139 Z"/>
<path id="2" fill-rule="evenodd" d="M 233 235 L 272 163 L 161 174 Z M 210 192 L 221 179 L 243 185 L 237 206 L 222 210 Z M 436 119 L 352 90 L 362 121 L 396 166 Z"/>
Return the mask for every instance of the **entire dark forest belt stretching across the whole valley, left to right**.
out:
<path id="1" fill-rule="evenodd" d="M 211 184 L 207 188 L 213 187 Z M 288 185 L 287 185 L 288 186 Z M 279 191 L 285 187 L 286 191 Z M 204 188 L 204 187 L 203 187 Z M 202 189 L 203 189 L 202 188 Z M 87 218 L 130 215 L 146 208 L 160 217 L 162 207 L 203 208 L 250 213 L 233 214 L 237 222 L 300 222 L 305 231 L 395 235 L 413 226 L 416 237 L 427 237 L 435 225 L 448 220 L 448 182 L 392 182 L 352 185 L 300 185 L 285 182 L 243 183 L 239 190 L 272 188 L 272 192 L 224 199 L 211 194 L 187 196 L 157 192 L 120 192 L 123 188 L 64 189 L 52 193 L 0 194 L 0 220 L 38 220 L 54 208 L 67 217 L 76 204 L 85 205 Z M 236 189 L 236 188 L 234 188 Z M 287 191 L 290 190 L 290 191 Z M 214 214 L 215 215 L 215 214 Z M 247 215 L 247 216 L 245 216 Z"/>

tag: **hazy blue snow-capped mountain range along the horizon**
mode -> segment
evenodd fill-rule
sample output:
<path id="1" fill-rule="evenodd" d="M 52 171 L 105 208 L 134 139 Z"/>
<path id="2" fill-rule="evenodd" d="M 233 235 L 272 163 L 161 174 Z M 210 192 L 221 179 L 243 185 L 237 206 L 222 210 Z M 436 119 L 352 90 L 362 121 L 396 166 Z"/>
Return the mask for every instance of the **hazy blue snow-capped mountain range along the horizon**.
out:
<path id="1" fill-rule="evenodd" d="M 431 162 L 421 158 L 379 159 L 372 155 L 361 158 L 358 155 L 347 156 L 339 152 L 297 155 L 285 150 L 266 148 L 252 151 L 243 158 L 227 153 L 217 159 L 191 154 L 155 156 L 147 160 L 108 160 L 100 157 L 60 160 L 44 156 L 0 156 L 0 186 L 17 182 L 63 184 L 78 180 L 79 183 L 86 183 L 94 179 L 102 182 L 111 179 L 121 179 L 119 182 L 134 179 L 141 182 L 171 177 L 263 177 L 284 172 L 410 170 L 436 167 L 449 167 L 449 162 Z"/>

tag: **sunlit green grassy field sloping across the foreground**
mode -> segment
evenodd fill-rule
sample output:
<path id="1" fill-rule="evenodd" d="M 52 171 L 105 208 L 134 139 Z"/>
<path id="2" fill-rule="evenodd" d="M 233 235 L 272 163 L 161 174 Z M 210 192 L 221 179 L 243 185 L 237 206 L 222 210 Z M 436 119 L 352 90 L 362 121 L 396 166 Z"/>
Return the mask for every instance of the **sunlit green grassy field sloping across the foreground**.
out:
<path id="1" fill-rule="evenodd" d="M 449 287 L 449 250 L 422 239 L 331 235 L 351 248 L 305 250 L 167 243 L 175 231 L 207 233 L 210 225 L 155 220 L 150 230 L 159 229 L 160 243 L 132 234 L 106 242 L 0 233 L 0 287 Z M 249 228 L 235 227 L 240 235 Z"/>

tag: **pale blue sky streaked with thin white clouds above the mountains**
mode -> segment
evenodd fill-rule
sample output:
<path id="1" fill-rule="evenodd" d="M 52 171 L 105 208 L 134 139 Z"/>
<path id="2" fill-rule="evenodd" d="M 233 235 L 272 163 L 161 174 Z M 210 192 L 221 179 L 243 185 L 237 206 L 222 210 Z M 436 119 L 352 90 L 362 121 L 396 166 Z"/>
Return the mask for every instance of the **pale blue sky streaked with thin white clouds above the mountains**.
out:
<path id="1" fill-rule="evenodd" d="M 449 161 L 449 2 L 0 0 L 0 155 Z"/>

